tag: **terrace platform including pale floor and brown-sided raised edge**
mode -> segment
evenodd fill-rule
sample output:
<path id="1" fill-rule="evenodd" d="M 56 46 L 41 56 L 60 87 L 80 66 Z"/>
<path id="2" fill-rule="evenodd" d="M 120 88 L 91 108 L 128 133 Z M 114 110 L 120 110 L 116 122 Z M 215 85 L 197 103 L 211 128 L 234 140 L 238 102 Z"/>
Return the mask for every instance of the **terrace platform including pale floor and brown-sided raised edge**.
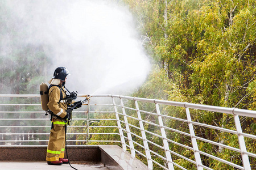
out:
<path id="1" fill-rule="evenodd" d="M 73 169 L 69 164 L 48 165 L 47 147 L 4 146 L 0 147 L 0 169 Z M 67 159 L 65 155 L 65 159 Z M 115 145 L 69 146 L 68 157 L 76 169 L 144 170 L 148 167 Z"/>

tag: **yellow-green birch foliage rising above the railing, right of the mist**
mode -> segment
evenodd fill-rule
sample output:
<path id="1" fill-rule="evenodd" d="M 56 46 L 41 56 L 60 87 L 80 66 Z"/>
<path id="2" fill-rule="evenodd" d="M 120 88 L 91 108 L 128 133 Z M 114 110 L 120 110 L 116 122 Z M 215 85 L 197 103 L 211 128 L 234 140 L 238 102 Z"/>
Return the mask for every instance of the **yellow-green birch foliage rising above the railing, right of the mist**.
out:
<path id="1" fill-rule="evenodd" d="M 254 1 L 125 2 L 155 61 L 187 101 L 247 108 L 254 89 Z"/>

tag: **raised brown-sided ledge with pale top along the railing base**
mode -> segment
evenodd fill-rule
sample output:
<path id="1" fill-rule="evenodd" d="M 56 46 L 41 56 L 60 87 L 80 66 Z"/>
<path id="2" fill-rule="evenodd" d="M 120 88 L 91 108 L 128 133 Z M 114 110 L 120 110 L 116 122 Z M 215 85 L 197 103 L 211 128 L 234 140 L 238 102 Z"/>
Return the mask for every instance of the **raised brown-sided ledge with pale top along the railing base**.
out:
<path id="1" fill-rule="evenodd" d="M 68 146 L 68 158 L 75 162 L 100 162 L 108 169 L 148 169 L 137 158 L 119 146 Z M 1 162 L 46 161 L 46 146 L 4 146 L 0 147 Z M 67 155 L 65 154 L 67 159 Z"/>

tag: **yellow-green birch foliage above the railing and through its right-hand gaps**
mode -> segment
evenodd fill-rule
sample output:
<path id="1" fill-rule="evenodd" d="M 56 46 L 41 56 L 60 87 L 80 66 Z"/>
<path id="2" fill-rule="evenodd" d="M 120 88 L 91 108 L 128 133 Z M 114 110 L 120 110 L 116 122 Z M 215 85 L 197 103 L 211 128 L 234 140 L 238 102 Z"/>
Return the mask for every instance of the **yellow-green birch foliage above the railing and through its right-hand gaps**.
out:
<path id="1" fill-rule="evenodd" d="M 160 66 L 161 71 L 154 72 L 154 77 L 159 78 L 152 79 L 150 75 L 148 82 L 154 80 L 154 87 L 158 87 L 162 84 L 160 77 L 166 74 L 168 86 L 162 87 L 167 92 L 168 100 L 255 110 L 255 1 L 126 3 L 138 18 L 142 36 L 150 40 L 144 45 L 152 49 L 152 58 Z M 143 97 L 150 96 L 147 90 L 153 86 L 148 82 L 139 91 Z M 199 111 L 191 114 L 195 121 L 234 129 L 233 118 L 227 114 Z M 254 133 L 254 120 L 242 119 L 243 131 Z M 199 137 L 238 147 L 236 135 L 205 128 L 195 128 L 195 131 Z M 190 145 L 189 141 L 185 142 Z M 247 149 L 255 152 L 255 141 L 247 143 Z M 239 154 L 203 142 L 199 143 L 199 147 L 219 158 L 241 164 Z M 172 150 L 175 148 L 172 147 Z M 223 164 L 210 159 L 204 159 L 204 164 L 213 169 L 224 168 Z M 251 160 L 252 168 L 255 168 L 254 164 Z"/>

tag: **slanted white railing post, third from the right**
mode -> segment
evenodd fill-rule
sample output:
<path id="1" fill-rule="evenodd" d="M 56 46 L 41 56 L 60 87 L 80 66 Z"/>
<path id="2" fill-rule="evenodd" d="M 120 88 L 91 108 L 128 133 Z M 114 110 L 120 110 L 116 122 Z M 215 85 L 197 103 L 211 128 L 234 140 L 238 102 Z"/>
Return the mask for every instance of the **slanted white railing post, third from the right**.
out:
<path id="1" fill-rule="evenodd" d="M 168 164 L 168 169 L 174 169 L 174 164 L 172 164 L 172 157 L 171 157 L 171 153 L 169 151 L 169 144 L 168 141 L 166 140 L 166 130 L 163 128 L 163 120 L 162 120 L 162 116 L 161 116 L 161 112 L 159 109 L 159 105 L 156 103 L 155 104 L 155 108 L 156 108 L 156 113 L 158 114 L 158 121 L 159 121 L 159 125 L 160 125 L 160 131 L 162 134 L 162 138 L 163 138 L 163 145 L 164 145 L 164 151 L 166 152 L 166 159 L 167 159 L 167 164 Z"/>

